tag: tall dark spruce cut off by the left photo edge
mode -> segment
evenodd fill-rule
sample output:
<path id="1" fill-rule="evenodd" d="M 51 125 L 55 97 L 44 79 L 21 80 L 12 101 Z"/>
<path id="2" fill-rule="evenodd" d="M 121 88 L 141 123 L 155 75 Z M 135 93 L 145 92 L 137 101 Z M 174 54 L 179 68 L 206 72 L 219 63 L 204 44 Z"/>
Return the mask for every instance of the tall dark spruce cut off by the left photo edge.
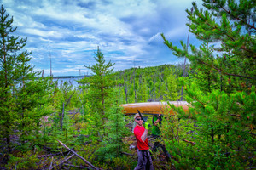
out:
<path id="1" fill-rule="evenodd" d="M 10 137 L 14 133 L 13 127 L 17 115 L 15 114 L 15 86 L 20 78 L 20 64 L 27 62 L 27 51 L 20 52 L 26 45 L 26 39 L 14 37 L 12 34 L 16 31 L 13 27 L 13 17 L 6 14 L 3 5 L 0 9 L 0 113 L 1 113 L 1 137 L 6 140 L 6 144 L 10 151 Z M 20 53 L 19 53 L 20 52 Z M 3 140 L 2 140 L 3 141 Z"/>

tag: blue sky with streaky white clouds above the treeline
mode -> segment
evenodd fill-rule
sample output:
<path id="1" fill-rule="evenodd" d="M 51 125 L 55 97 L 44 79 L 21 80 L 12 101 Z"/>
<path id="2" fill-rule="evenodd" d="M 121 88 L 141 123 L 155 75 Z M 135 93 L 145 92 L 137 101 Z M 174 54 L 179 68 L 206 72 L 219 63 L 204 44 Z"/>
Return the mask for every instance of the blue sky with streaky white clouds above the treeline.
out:
<path id="1" fill-rule="evenodd" d="M 198 0 L 199 1 L 199 0 Z M 163 44 L 186 42 L 191 0 L 2 0 L 15 35 L 27 37 L 36 71 L 54 76 L 90 73 L 97 47 L 114 71 L 183 63 Z M 189 42 L 195 41 L 190 36 Z"/>

